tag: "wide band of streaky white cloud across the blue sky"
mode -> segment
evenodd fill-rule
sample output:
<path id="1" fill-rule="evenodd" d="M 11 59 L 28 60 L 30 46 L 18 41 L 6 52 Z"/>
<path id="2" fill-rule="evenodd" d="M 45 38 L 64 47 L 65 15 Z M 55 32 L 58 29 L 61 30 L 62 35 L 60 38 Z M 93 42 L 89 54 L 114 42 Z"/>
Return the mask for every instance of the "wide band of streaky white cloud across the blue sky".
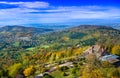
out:
<path id="1" fill-rule="evenodd" d="M 0 2 L 0 4 L 19 5 L 17 8 L 0 9 L 0 24 L 55 23 L 79 19 L 120 19 L 120 8 L 115 7 L 55 7 L 50 6 L 47 2 Z"/>

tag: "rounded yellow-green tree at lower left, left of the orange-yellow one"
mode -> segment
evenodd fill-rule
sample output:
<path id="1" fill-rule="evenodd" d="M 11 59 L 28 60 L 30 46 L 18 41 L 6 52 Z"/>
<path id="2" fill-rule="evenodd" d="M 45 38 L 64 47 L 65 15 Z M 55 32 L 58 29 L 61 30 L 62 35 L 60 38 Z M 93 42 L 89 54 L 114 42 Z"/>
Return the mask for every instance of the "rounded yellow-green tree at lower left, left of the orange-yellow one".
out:
<path id="1" fill-rule="evenodd" d="M 8 74 L 10 77 L 15 78 L 15 76 L 20 73 L 20 69 L 22 69 L 22 64 L 17 63 L 8 68 Z"/>

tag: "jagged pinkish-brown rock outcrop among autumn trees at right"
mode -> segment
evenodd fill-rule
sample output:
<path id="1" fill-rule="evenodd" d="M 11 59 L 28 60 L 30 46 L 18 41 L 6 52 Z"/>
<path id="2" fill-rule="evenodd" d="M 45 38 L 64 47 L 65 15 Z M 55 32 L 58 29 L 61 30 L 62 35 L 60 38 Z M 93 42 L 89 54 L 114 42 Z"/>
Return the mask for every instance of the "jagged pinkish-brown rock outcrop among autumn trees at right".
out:
<path id="1" fill-rule="evenodd" d="M 108 53 L 100 45 L 94 45 L 83 52 L 85 57 L 87 57 L 89 54 L 94 54 L 97 58 L 100 58 L 101 56 L 107 55 Z"/>

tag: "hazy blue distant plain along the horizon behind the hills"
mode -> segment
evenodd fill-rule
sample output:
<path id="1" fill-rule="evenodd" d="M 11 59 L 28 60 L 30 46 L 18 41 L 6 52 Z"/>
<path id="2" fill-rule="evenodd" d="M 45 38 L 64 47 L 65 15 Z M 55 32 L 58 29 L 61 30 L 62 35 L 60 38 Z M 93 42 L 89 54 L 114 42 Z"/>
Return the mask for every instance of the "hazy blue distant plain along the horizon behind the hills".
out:
<path id="1" fill-rule="evenodd" d="M 85 24 L 78 24 L 78 23 L 69 23 L 69 24 L 24 24 L 23 26 L 30 26 L 30 27 L 37 27 L 37 28 L 48 28 L 48 29 L 65 29 L 65 28 L 71 28 L 78 25 L 85 25 Z M 91 25 L 91 24 L 88 24 Z M 120 30 L 120 23 L 100 23 L 100 24 L 92 24 L 92 25 L 104 25 L 104 26 L 110 26 L 115 29 Z"/>

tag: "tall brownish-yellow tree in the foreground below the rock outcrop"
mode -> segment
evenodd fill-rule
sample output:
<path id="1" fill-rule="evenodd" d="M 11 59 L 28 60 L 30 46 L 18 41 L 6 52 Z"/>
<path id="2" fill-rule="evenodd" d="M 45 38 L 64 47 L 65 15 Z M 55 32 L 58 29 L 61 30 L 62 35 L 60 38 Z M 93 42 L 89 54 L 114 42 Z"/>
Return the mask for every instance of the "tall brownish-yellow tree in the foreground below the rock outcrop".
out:
<path id="1" fill-rule="evenodd" d="M 100 62 L 97 60 L 95 55 L 89 55 L 87 57 L 87 63 L 83 68 L 82 78 L 104 78 Z"/>

